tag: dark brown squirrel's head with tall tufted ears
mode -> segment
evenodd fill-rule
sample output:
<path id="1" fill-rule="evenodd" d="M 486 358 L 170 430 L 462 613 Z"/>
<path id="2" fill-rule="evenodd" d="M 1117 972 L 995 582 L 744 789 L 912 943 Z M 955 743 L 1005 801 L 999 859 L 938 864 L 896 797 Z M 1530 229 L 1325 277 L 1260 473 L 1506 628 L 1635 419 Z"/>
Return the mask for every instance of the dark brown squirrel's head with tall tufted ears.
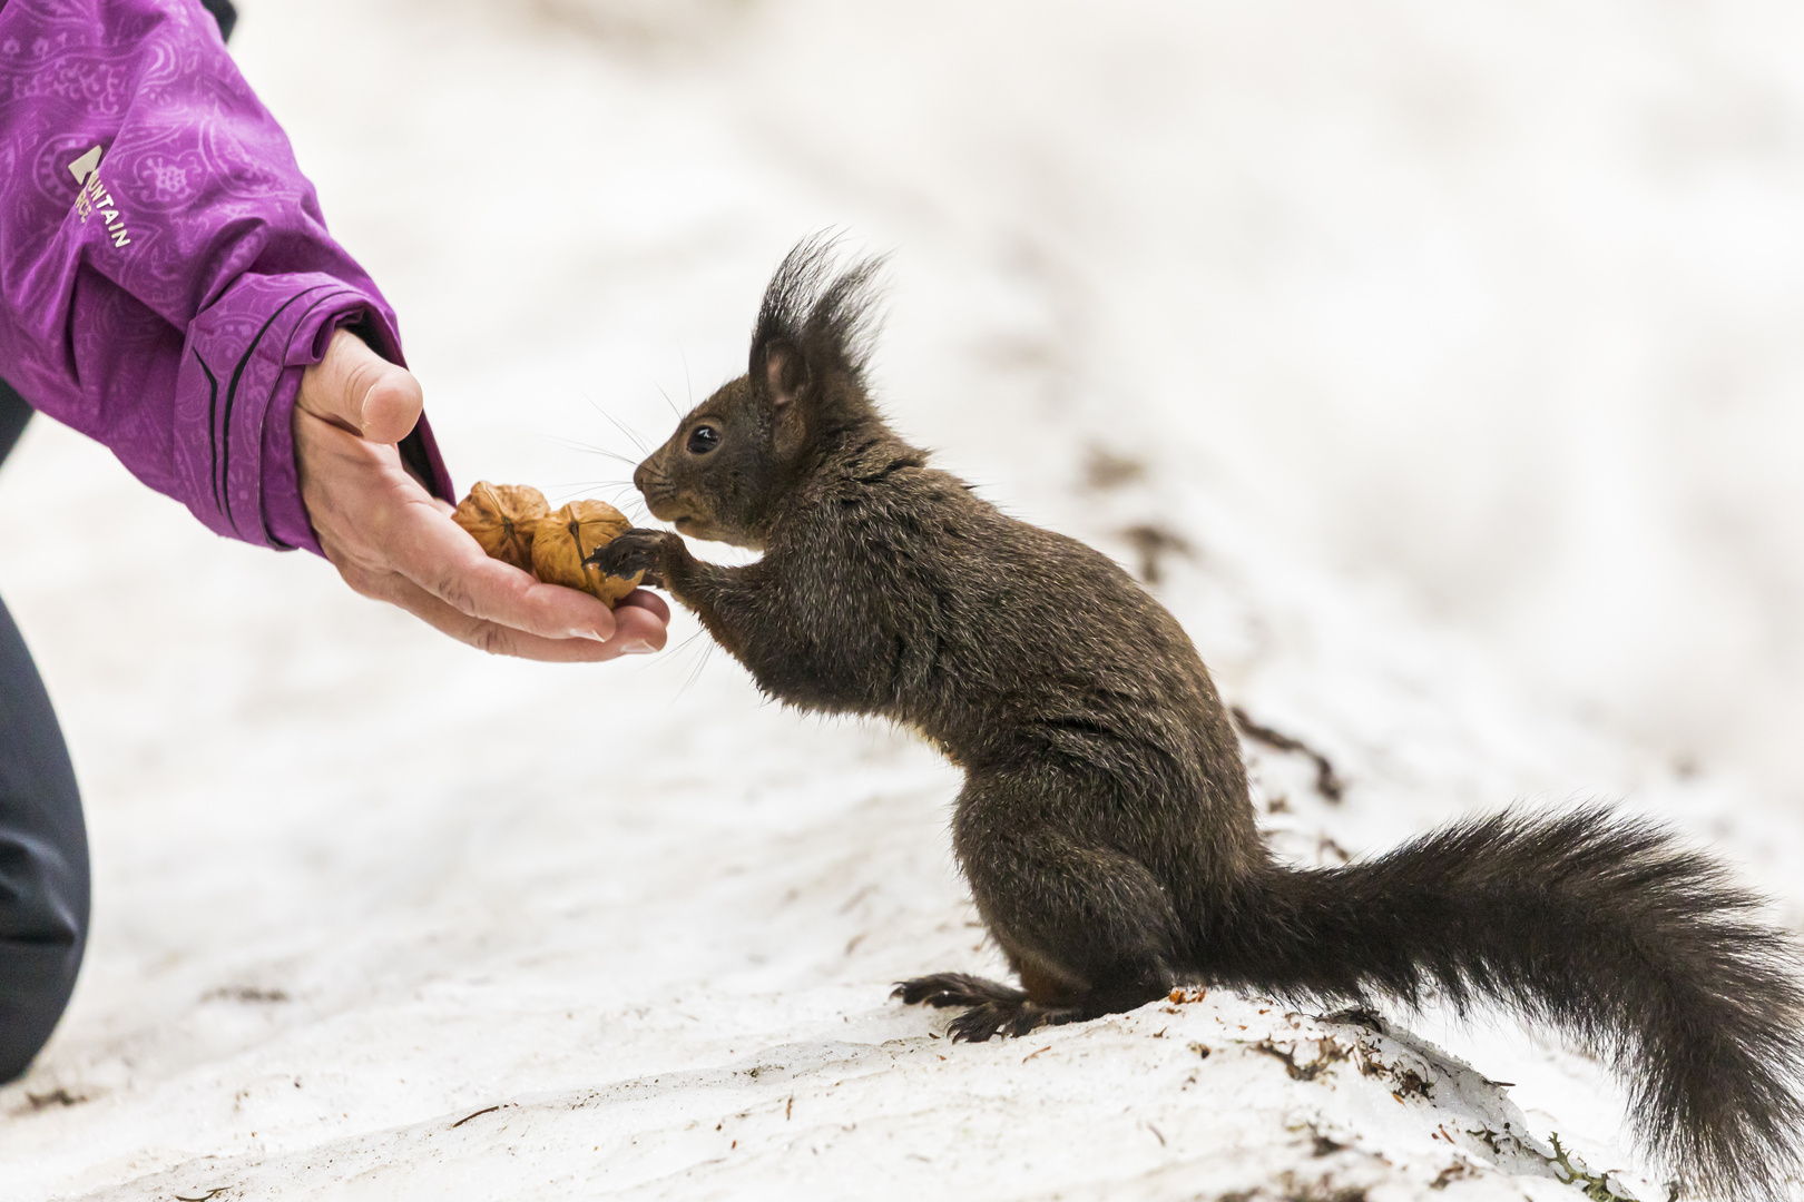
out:
<path id="1" fill-rule="evenodd" d="M 880 423 L 864 387 L 880 263 L 835 270 L 832 250 L 815 236 L 788 252 L 758 310 L 750 369 L 633 472 L 678 533 L 761 550 L 796 488 Z"/>

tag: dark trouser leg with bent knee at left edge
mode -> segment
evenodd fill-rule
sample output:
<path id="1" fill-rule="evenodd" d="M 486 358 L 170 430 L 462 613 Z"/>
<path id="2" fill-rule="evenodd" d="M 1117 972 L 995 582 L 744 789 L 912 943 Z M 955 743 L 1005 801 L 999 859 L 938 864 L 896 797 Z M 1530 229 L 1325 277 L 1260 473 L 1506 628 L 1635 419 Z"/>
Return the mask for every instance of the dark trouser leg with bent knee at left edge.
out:
<path id="1" fill-rule="evenodd" d="M 0 604 L 0 1081 L 31 1065 L 76 986 L 88 836 L 63 732 Z"/>

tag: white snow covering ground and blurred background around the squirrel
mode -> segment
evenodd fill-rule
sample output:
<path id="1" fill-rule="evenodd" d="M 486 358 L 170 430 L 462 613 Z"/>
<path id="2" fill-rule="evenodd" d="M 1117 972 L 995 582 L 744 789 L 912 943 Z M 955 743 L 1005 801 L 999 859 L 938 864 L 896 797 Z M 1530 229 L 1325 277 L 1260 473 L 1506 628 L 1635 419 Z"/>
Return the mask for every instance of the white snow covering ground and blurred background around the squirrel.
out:
<path id="1" fill-rule="evenodd" d="M 1128 564 L 1189 548 L 1158 593 L 1223 692 L 1351 782 L 1250 748 L 1288 854 L 1624 797 L 1804 924 L 1795 9 L 242 7 L 460 483 L 606 496 L 601 411 L 660 440 L 844 225 L 895 250 L 900 429 Z M 5 1202 L 1539 1202 L 1577 1197 L 1555 1134 L 1638 1168 L 1597 1065 L 1506 1022 L 1210 993 L 947 1045 L 886 993 L 996 970 L 956 775 L 761 705 L 687 622 L 483 660 L 47 423 L 0 595 L 97 872 L 0 1090 Z"/>

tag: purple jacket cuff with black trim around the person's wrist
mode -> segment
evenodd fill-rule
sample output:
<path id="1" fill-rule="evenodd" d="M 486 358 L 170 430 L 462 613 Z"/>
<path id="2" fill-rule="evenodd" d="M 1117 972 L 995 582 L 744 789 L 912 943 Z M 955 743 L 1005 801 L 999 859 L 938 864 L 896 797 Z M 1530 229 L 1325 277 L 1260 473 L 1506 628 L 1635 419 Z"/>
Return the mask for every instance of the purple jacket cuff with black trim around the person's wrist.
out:
<path id="1" fill-rule="evenodd" d="M 357 324 L 372 348 L 400 359 L 393 315 L 379 296 L 330 276 L 240 276 L 188 328 L 177 382 L 177 472 L 188 508 L 216 533 L 319 551 L 294 465 L 301 371 L 325 357 L 332 332 Z M 426 420 L 428 488 L 453 499 Z"/>

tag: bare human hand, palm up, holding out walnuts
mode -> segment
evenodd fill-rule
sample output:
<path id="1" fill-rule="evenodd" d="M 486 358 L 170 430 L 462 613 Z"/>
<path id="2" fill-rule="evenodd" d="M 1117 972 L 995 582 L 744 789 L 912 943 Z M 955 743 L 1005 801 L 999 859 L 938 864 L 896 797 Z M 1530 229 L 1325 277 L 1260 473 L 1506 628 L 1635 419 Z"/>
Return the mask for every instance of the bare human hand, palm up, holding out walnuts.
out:
<path id="1" fill-rule="evenodd" d="M 489 559 L 400 463 L 420 420 L 419 380 L 339 330 L 301 373 L 294 461 L 319 548 L 364 596 L 400 606 L 482 651 L 527 660 L 613 660 L 664 647 L 669 607 L 639 589 L 610 611 Z"/>

